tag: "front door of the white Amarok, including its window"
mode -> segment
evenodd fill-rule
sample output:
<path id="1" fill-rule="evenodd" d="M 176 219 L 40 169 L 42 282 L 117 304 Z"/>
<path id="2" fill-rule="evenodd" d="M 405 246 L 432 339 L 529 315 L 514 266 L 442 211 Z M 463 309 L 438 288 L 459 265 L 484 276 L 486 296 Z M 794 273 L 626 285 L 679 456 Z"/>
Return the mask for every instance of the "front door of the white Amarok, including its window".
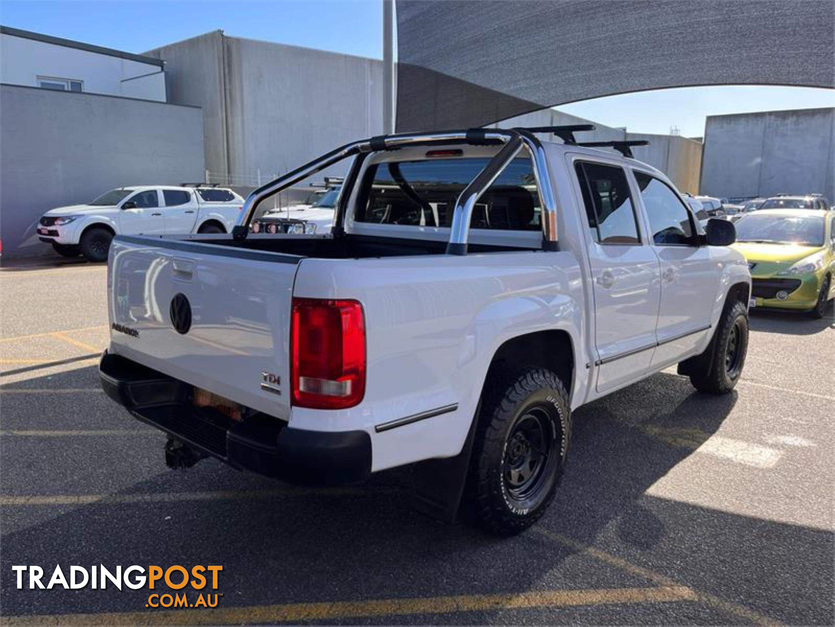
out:
<path id="1" fill-rule="evenodd" d="M 692 213 L 676 191 L 646 172 L 633 172 L 661 264 L 658 348 L 652 367 L 663 368 L 691 354 L 710 333 L 721 273 L 711 248 L 699 245 Z"/>

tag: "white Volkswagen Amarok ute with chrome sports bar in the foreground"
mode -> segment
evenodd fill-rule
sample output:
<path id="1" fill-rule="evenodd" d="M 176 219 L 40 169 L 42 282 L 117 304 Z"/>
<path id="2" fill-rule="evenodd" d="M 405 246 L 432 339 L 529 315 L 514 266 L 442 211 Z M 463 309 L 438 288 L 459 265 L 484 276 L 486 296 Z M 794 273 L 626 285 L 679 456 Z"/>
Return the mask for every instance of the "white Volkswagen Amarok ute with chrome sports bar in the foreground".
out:
<path id="1" fill-rule="evenodd" d="M 104 390 L 168 434 L 170 466 L 334 484 L 413 464 L 423 512 L 518 533 L 577 407 L 673 364 L 725 394 L 745 363 L 734 225 L 698 230 L 630 142 L 574 139 L 589 128 L 360 140 L 254 191 L 230 235 L 115 237 Z M 342 159 L 330 234 L 250 231 Z"/>

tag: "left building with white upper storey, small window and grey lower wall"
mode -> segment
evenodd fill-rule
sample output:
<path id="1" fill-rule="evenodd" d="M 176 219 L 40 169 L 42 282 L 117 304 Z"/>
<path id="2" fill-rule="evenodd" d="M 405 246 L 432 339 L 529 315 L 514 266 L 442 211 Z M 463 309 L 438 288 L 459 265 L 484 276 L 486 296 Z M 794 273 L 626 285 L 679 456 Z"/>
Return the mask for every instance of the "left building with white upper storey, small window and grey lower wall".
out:
<path id="1" fill-rule="evenodd" d="M 53 254 L 35 227 L 54 207 L 202 180 L 200 109 L 165 95 L 160 59 L 0 27 L 3 254 Z"/>

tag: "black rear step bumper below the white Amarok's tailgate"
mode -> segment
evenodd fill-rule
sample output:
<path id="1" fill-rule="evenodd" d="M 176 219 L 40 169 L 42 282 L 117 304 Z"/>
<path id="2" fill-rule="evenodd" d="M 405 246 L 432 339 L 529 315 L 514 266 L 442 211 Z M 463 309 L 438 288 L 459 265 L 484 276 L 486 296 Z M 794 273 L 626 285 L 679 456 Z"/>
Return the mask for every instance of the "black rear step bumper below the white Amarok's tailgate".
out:
<path id="1" fill-rule="evenodd" d="M 230 466 L 306 485 L 357 482 L 371 474 L 366 431 L 294 429 L 261 413 L 232 421 L 195 407 L 191 385 L 116 354 L 102 356 L 99 378 L 104 392 L 139 421 Z"/>

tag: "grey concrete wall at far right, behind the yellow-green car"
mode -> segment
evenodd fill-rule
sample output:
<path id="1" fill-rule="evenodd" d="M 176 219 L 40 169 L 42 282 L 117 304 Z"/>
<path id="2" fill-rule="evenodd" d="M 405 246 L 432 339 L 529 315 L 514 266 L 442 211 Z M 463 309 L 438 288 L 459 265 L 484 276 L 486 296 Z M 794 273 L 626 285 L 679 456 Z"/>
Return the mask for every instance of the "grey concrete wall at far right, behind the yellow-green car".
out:
<path id="1" fill-rule="evenodd" d="M 835 109 L 711 115 L 701 192 L 820 193 L 835 201 Z"/>

